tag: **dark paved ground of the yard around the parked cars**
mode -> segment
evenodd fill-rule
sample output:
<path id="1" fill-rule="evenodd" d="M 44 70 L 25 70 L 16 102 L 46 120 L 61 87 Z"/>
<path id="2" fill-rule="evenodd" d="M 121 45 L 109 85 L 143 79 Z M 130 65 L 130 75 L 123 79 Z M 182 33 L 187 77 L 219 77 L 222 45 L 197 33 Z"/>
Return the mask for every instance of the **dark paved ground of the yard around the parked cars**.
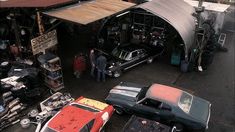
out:
<path id="1" fill-rule="evenodd" d="M 74 78 L 72 76 L 71 66 L 68 64 L 72 64 L 72 56 L 75 52 L 62 52 L 61 56 L 62 62 L 64 63 L 64 81 L 66 86 L 64 91 L 70 92 L 74 98 L 85 96 L 104 101 L 109 90 L 121 81 L 146 85 L 161 83 L 175 86 L 212 103 L 208 132 L 235 132 L 234 14 L 233 9 L 226 16 L 225 27 L 223 29 L 223 32 L 227 34 L 225 47 L 228 48 L 228 52 L 216 53 L 212 65 L 206 71 L 201 73 L 181 73 L 178 67 L 169 65 L 169 61 L 157 59 L 152 64 L 143 64 L 125 72 L 120 78 L 108 78 L 105 83 L 98 83 L 94 78 L 89 76 L 89 71 L 80 79 Z M 67 50 L 65 49 L 65 51 Z M 119 116 L 114 114 L 107 124 L 107 132 L 121 131 L 129 118 L 130 115 Z M 17 124 L 4 131 L 25 132 L 34 130 L 35 127 L 21 129 L 19 124 Z"/>

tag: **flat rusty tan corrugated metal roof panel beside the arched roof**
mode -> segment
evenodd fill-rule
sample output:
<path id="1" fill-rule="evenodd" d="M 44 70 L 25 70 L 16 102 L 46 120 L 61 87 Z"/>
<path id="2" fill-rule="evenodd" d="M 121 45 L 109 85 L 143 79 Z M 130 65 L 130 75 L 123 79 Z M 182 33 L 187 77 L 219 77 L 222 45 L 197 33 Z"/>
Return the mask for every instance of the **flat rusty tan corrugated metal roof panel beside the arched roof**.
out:
<path id="1" fill-rule="evenodd" d="M 86 25 L 96 20 L 119 13 L 134 5 L 135 4 L 133 3 L 120 0 L 95 0 L 43 12 L 43 14 Z"/>

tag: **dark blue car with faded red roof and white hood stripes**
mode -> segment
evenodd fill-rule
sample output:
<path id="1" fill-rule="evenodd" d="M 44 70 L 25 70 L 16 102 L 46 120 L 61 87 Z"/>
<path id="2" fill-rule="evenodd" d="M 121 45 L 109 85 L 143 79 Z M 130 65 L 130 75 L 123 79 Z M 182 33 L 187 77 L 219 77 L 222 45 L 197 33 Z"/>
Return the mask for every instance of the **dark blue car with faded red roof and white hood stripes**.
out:
<path id="1" fill-rule="evenodd" d="M 134 113 L 175 126 L 177 131 L 205 130 L 210 119 L 210 102 L 161 84 L 120 83 L 110 90 L 106 102 L 118 114 Z"/>

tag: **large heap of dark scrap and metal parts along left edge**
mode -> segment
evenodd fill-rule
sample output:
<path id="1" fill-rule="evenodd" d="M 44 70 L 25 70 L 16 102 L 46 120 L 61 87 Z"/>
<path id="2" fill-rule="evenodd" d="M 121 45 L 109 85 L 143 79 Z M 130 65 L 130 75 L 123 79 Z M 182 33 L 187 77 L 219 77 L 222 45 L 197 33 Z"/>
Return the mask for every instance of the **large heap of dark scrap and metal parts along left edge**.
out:
<path id="1" fill-rule="evenodd" d="M 0 64 L 0 131 L 19 122 L 27 106 L 41 98 L 38 72 L 18 62 Z"/>

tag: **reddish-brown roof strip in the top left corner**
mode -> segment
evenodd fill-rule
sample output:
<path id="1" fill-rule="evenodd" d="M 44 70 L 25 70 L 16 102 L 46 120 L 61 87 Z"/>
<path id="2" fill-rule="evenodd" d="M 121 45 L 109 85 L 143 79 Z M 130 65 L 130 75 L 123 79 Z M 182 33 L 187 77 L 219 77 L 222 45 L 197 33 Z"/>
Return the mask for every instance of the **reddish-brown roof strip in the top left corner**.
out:
<path id="1" fill-rule="evenodd" d="M 0 8 L 5 7 L 49 7 L 75 0 L 0 0 Z"/>

